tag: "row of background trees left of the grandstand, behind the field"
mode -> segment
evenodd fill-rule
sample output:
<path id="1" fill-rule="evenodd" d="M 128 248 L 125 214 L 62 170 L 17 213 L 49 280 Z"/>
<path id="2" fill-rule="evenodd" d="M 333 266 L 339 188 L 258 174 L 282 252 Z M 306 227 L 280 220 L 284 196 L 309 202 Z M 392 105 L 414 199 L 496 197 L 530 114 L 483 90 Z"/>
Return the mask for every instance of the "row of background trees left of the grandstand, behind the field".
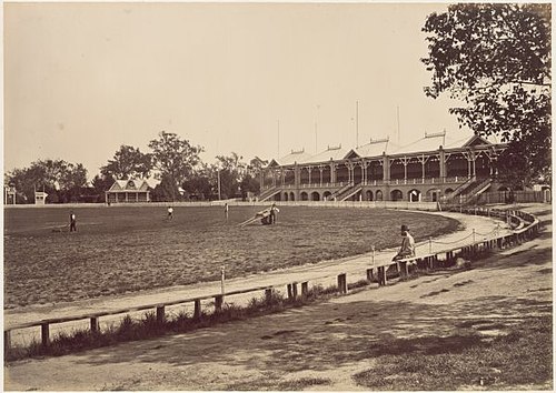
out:
<path id="1" fill-rule="evenodd" d="M 150 177 L 160 180 L 151 194 L 155 201 L 245 198 L 249 192 L 258 192 L 258 172 L 267 164 L 258 158 L 246 163 L 234 152 L 229 157 L 218 155 L 215 163 L 207 164 L 199 158 L 202 147 L 166 131 L 151 140 L 149 148 L 151 152 L 143 153 L 138 148 L 121 145 L 91 184 L 87 184 L 82 164 L 63 160 L 38 160 L 29 168 L 8 173 L 4 183 L 16 189 L 18 203 L 33 203 L 36 190 L 47 192 L 50 203 L 103 202 L 105 191 L 116 179 Z"/>

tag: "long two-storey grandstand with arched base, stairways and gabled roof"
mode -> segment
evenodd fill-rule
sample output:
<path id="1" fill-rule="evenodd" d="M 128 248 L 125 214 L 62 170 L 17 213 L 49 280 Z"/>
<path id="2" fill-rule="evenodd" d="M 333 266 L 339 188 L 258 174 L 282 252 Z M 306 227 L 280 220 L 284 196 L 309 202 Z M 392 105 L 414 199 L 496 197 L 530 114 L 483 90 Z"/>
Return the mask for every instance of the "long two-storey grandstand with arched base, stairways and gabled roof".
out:
<path id="1" fill-rule="evenodd" d="M 356 149 L 304 150 L 271 160 L 260 171 L 261 201 L 440 201 L 505 190 L 497 158 L 505 143 L 446 132 L 397 145 L 389 138 Z"/>

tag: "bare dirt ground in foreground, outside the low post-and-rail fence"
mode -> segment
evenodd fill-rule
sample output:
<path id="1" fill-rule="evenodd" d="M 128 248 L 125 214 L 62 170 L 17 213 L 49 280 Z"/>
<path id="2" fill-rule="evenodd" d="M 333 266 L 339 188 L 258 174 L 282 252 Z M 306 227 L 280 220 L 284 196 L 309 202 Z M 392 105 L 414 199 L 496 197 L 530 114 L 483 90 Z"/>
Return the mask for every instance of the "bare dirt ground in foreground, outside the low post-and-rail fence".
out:
<path id="1" fill-rule="evenodd" d="M 351 376 L 376 364 L 364 351 L 373 342 L 446 335 L 476 319 L 493 325 L 480 332 L 496 334 L 504 323 L 550 314 L 549 210 L 543 219 L 548 221 L 538 239 L 470 271 L 421 276 L 193 333 L 16 362 L 4 367 L 4 389 L 301 390 L 304 381 L 317 381 L 311 389 L 365 390 Z"/>

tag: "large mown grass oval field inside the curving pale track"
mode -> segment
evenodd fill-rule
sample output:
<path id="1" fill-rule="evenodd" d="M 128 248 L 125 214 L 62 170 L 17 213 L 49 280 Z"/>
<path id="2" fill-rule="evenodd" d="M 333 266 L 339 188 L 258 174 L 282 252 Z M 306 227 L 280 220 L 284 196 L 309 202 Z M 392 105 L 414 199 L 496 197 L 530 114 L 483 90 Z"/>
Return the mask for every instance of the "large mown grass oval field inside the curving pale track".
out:
<path id="1" fill-rule="evenodd" d="M 276 225 L 237 224 L 260 206 L 4 210 L 4 308 L 58 303 L 227 278 L 356 255 L 454 231 L 438 215 L 381 209 L 282 206 Z"/>

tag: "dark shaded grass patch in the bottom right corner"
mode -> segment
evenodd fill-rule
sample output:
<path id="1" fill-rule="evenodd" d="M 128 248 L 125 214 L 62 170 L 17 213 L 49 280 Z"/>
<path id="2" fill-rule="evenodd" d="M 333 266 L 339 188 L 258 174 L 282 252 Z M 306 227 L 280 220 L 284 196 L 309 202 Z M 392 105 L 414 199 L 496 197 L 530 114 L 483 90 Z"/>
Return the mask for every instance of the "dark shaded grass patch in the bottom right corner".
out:
<path id="1" fill-rule="evenodd" d="M 489 340 L 478 334 L 394 340 L 370 349 L 380 357 L 379 366 L 354 380 L 381 391 L 512 390 L 547 382 L 552 386 L 552 341 L 550 316 Z"/>

